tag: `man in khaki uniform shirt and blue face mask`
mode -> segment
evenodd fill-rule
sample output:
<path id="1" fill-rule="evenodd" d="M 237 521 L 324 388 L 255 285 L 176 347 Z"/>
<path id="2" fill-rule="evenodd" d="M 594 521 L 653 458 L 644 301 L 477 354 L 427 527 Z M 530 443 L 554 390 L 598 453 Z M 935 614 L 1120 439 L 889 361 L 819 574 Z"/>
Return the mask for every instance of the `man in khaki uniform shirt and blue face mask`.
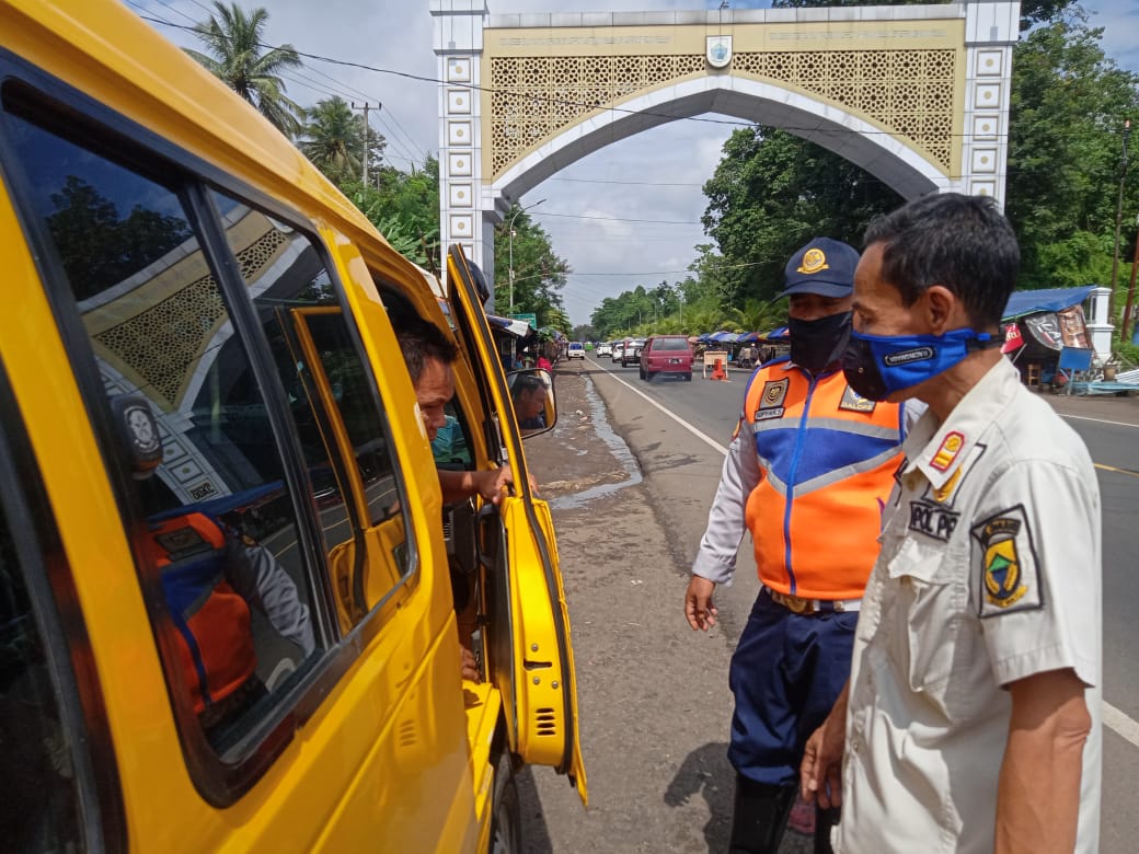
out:
<path id="1" fill-rule="evenodd" d="M 989 199 L 927 196 L 867 233 L 847 380 L 929 409 L 803 762 L 804 794 L 843 804 L 836 852 L 1097 848 L 1099 491 L 997 348 L 1017 266 Z"/>

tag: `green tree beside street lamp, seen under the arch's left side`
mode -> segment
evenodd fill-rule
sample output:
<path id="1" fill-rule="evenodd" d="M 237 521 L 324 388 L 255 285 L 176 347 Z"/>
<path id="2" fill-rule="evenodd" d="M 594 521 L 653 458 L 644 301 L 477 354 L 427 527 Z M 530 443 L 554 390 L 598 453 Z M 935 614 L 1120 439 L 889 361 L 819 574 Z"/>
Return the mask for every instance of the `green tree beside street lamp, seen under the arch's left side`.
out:
<path id="1" fill-rule="evenodd" d="M 514 230 L 514 313 L 538 314 L 538 322 L 568 332 L 562 290 L 570 274 L 570 264 L 555 254 L 546 229 L 514 205 L 494 229 L 494 305 L 502 314 L 510 313 L 510 233 Z M 560 325 L 551 318 L 562 318 Z"/>

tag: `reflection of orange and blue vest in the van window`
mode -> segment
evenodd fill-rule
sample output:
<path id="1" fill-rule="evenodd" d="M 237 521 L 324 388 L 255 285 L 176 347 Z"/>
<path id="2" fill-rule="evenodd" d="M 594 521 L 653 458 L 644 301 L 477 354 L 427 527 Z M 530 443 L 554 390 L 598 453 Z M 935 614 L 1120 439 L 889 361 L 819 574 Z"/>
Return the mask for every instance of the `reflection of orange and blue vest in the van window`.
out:
<path id="1" fill-rule="evenodd" d="M 236 552 L 222 527 L 199 512 L 151 523 L 146 551 L 161 572 L 182 673 L 194 711 L 202 714 L 240 688 L 256 666 L 249 606 L 226 575 L 226 561 Z"/>

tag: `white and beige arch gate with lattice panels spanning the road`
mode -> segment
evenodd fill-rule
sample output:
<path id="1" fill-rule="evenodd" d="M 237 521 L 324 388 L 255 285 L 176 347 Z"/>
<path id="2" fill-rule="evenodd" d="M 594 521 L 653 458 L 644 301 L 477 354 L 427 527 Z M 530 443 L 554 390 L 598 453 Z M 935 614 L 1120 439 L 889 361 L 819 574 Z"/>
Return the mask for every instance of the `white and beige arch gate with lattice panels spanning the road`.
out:
<path id="1" fill-rule="evenodd" d="M 493 227 L 571 163 L 718 113 L 781 128 L 906 198 L 1005 195 L 1019 3 L 491 15 L 431 0 L 440 213 L 493 277 Z"/>

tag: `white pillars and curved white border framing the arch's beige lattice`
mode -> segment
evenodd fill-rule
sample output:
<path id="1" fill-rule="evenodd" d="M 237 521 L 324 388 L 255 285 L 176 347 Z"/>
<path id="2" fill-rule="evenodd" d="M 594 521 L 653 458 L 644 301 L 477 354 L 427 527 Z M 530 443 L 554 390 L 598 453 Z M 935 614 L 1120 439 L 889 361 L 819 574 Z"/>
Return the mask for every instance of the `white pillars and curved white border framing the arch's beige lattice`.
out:
<path id="1" fill-rule="evenodd" d="M 493 228 L 514 200 L 571 163 L 611 142 L 669 121 L 722 113 L 786 128 L 861 166 L 906 198 L 926 192 L 988 195 L 1003 203 L 1013 44 L 1019 32 L 1018 0 L 940 6 L 842 7 L 698 13 L 572 13 L 503 15 L 491 19 L 485 0 L 431 0 L 439 57 L 440 222 L 445 246 L 458 243 L 493 280 Z M 567 126 L 513 165 L 497 181 L 483 175 L 481 57 L 483 31 L 495 28 L 604 28 L 675 26 L 703 22 L 713 32 L 726 22 L 965 20 L 965 93 L 959 175 L 944 171 L 888 133 L 833 104 L 732 74 L 708 74 L 663 87 Z M 730 25 L 730 23 L 729 23 Z M 805 130 L 806 129 L 806 130 Z M 489 139 L 486 140 L 489 143 Z"/>

